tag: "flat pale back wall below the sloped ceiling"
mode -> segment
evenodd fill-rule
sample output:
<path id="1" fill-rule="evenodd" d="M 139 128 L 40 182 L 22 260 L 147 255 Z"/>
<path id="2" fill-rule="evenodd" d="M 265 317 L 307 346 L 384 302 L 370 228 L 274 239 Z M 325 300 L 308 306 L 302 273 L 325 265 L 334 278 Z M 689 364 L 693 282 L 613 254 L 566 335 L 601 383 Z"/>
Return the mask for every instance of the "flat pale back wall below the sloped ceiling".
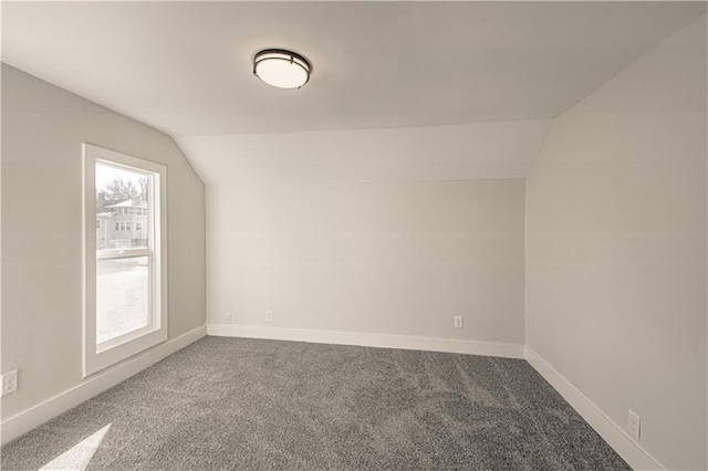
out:
<path id="1" fill-rule="evenodd" d="M 209 186 L 209 322 L 522 345 L 524 191 L 523 179 Z"/>

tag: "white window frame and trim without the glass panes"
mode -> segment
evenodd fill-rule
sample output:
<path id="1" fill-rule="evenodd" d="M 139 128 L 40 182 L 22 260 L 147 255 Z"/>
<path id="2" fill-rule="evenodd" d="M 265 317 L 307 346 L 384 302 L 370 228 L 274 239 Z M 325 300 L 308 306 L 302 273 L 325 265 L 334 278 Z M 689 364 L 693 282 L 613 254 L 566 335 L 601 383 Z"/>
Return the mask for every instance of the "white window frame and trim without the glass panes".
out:
<path id="1" fill-rule="evenodd" d="M 84 177 L 84 377 L 122 362 L 167 339 L 167 168 L 165 166 L 83 145 Z M 96 163 L 153 175 L 148 186 L 148 248 L 114 249 L 96 252 Z M 146 327 L 96 345 L 96 262 L 98 259 L 148 257 L 149 322 Z"/>

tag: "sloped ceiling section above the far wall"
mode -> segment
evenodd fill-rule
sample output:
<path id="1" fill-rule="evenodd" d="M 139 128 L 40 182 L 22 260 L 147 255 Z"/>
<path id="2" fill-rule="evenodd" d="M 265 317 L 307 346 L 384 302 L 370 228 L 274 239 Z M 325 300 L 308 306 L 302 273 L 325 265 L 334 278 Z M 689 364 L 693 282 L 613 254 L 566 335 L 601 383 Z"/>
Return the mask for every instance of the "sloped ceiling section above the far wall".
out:
<path id="1" fill-rule="evenodd" d="M 178 138 L 206 184 L 523 178 L 551 119 Z"/>

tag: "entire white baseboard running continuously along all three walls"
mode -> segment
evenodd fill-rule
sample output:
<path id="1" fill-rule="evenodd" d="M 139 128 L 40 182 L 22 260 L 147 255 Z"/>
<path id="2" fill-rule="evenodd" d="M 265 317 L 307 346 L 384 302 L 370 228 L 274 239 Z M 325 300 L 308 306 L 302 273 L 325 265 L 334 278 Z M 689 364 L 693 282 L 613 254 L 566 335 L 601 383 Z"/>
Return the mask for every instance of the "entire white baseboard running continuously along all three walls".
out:
<path id="1" fill-rule="evenodd" d="M 82 384 L 8 418 L 0 425 L 1 443 L 4 444 L 60 414 L 79 406 L 81 402 L 124 381 L 205 335 L 525 358 L 632 468 L 635 470 L 665 469 L 665 467 L 644 450 L 639 443 L 634 441 L 620 426 L 565 379 L 563 375 L 539 354 L 531 348 L 524 348 L 523 345 L 363 332 L 313 331 L 235 324 L 208 324 L 198 327 L 177 338 L 150 348 L 144 354 L 122 362 L 103 373 L 93 375 Z"/>

